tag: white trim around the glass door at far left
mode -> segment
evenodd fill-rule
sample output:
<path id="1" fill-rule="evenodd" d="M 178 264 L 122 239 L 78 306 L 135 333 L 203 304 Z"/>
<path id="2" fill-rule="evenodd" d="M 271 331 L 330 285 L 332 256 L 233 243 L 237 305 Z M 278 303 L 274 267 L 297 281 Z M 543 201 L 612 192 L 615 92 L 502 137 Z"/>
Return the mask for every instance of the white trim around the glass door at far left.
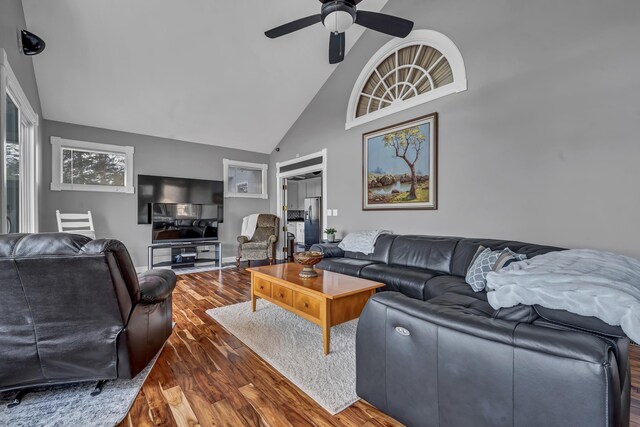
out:
<path id="1" fill-rule="evenodd" d="M 40 191 L 40 158 L 39 158 L 39 135 L 38 127 L 40 117 L 29 103 L 29 98 L 22 90 L 20 82 L 13 73 L 7 53 L 0 49 L 0 232 L 6 232 L 4 218 L 7 216 L 7 199 L 5 194 L 5 171 L 4 171 L 4 150 L 6 144 L 6 103 L 7 96 L 20 110 L 21 132 L 21 152 L 20 157 L 24 161 L 20 162 L 20 180 L 24 183 L 21 189 L 20 206 L 20 231 L 25 233 L 36 233 L 39 230 L 38 224 L 38 192 Z M 25 141 L 24 138 L 27 138 Z"/>

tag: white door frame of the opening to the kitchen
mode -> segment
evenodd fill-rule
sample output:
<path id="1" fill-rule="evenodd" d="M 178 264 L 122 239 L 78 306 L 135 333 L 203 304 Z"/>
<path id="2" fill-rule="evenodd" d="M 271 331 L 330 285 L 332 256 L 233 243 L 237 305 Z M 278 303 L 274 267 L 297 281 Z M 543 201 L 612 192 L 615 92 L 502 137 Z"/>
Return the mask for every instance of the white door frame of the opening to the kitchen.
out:
<path id="1" fill-rule="evenodd" d="M 296 163 L 301 163 L 301 162 L 315 159 L 318 157 L 322 157 L 322 163 L 318 163 L 317 165 L 307 166 L 299 169 L 293 169 L 286 172 L 280 172 L 280 168 L 284 166 L 295 165 Z M 282 214 L 282 211 L 283 211 L 282 207 L 284 206 L 283 204 L 284 200 L 282 197 L 282 185 L 283 185 L 282 182 L 286 178 L 290 178 L 292 176 L 305 174 L 309 172 L 322 172 L 322 227 L 323 229 L 327 227 L 327 206 L 328 206 L 328 203 L 327 203 L 328 179 L 327 178 L 328 178 L 328 175 L 327 175 L 327 149 L 326 148 L 323 148 L 322 150 L 315 153 L 307 154 L 305 156 L 296 157 L 294 159 L 285 160 L 283 162 L 276 162 L 276 185 L 278 189 L 276 215 L 278 216 L 278 218 L 280 218 L 280 224 L 282 227 L 286 227 L 286 224 L 287 224 L 287 219 L 284 218 Z M 322 238 L 323 239 L 327 238 L 327 236 L 324 233 L 324 230 L 322 230 Z M 285 242 L 282 242 L 282 243 L 283 244 L 280 246 L 280 250 L 278 251 L 278 259 L 282 259 L 284 257 L 282 248 L 284 247 Z"/>

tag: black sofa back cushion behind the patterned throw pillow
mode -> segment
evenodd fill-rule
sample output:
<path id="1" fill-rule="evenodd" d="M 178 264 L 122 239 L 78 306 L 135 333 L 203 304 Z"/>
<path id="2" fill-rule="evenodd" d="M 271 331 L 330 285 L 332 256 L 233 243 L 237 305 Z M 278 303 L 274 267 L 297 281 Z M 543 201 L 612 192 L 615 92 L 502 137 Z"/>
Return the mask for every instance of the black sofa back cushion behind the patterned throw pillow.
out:
<path id="1" fill-rule="evenodd" d="M 509 248 L 516 253 L 526 255 L 527 258 L 533 258 L 534 256 L 546 254 L 547 252 L 564 250 L 563 248 L 554 246 L 533 245 L 531 243 L 514 242 L 510 240 L 460 239 L 453 253 L 450 274 L 455 276 L 466 275 L 467 268 L 469 264 L 471 264 L 471 260 L 479 246 L 484 246 L 492 251 Z"/>

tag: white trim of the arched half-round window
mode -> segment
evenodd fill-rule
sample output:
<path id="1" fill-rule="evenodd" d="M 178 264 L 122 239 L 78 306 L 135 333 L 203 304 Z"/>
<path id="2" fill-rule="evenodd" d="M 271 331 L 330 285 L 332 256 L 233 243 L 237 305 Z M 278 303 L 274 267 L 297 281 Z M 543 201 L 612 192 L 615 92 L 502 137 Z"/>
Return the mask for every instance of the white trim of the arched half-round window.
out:
<path id="1" fill-rule="evenodd" d="M 364 116 L 356 117 L 358 99 L 360 98 L 362 89 L 364 88 L 364 85 L 371 73 L 373 73 L 378 65 L 380 65 L 382 61 L 384 61 L 393 52 L 417 43 L 431 46 L 434 49 L 439 50 L 440 53 L 444 55 L 451 66 L 453 82 L 429 92 L 425 92 L 421 95 L 414 96 L 413 98 L 409 98 L 405 101 L 391 104 L 388 107 L 381 108 L 377 111 L 365 114 Z M 449 37 L 437 31 L 414 30 L 404 39 L 396 38 L 382 46 L 371 57 L 369 62 L 367 62 L 367 65 L 364 66 L 355 85 L 353 86 L 353 90 L 351 91 L 349 106 L 347 107 L 347 121 L 345 123 L 345 129 L 348 130 L 364 123 L 377 120 L 381 117 L 398 113 L 408 108 L 424 104 L 425 102 L 433 101 L 434 99 L 465 90 L 467 90 L 467 72 L 464 66 L 464 60 L 462 59 L 462 54 L 455 43 L 453 43 Z"/>

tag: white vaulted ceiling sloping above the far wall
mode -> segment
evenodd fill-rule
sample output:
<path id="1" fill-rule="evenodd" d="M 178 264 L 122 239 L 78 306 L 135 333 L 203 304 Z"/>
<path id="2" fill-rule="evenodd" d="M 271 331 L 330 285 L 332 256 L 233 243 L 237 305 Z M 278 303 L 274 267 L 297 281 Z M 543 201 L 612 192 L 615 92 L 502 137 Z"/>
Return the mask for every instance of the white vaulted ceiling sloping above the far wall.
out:
<path id="1" fill-rule="evenodd" d="M 379 11 L 387 0 L 365 0 Z M 23 0 L 44 118 L 269 153 L 329 78 L 317 0 Z M 363 29 L 347 32 L 347 51 Z"/>

